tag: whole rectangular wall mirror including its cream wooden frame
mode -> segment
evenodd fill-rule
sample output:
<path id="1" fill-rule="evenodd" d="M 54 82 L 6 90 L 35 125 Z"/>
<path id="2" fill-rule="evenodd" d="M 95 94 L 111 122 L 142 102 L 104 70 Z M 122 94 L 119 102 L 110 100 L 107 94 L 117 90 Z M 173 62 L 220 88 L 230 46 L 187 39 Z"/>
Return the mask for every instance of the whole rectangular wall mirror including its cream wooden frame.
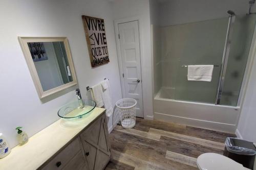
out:
<path id="1" fill-rule="evenodd" d="M 76 85 L 66 37 L 19 37 L 39 98 Z"/>

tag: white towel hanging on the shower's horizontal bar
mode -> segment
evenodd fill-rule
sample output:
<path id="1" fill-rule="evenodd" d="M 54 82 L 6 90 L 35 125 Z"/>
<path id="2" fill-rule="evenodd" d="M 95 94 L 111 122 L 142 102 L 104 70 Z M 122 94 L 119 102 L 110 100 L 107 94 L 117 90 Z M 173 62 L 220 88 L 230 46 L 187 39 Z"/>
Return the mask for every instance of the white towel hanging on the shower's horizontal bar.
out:
<path id="1" fill-rule="evenodd" d="M 187 80 L 210 82 L 214 65 L 188 65 Z"/>

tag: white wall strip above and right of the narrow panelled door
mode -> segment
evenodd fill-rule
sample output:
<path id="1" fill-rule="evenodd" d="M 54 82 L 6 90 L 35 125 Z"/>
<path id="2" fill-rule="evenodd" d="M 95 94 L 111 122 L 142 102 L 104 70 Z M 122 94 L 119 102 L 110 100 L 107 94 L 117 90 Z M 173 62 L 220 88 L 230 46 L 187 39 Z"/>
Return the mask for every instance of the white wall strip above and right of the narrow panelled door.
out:
<path id="1" fill-rule="evenodd" d="M 153 59 L 151 57 L 150 5 L 148 0 L 113 0 L 114 19 L 139 16 L 142 23 L 141 75 L 144 118 L 153 118 Z"/>

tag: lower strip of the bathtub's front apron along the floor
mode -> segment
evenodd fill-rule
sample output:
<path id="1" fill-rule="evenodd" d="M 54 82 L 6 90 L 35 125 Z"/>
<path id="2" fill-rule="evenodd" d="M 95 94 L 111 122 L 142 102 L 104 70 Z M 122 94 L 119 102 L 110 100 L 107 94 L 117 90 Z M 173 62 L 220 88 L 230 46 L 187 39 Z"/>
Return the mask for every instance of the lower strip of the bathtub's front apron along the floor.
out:
<path id="1" fill-rule="evenodd" d="M 163 113 L 154 113 L 154 119 L 162 120 L 165 122 L 173 122 L 178 124 L 184 124 L 187 126 L 194 126 L 198 128 L 222 131 L 227 133 L 235 133 L 237 126 L 232 124 L 224 124 L 218 122 L 210 122 L 207 120 L 193 119 L 188 117 L 181 117 Z"/>

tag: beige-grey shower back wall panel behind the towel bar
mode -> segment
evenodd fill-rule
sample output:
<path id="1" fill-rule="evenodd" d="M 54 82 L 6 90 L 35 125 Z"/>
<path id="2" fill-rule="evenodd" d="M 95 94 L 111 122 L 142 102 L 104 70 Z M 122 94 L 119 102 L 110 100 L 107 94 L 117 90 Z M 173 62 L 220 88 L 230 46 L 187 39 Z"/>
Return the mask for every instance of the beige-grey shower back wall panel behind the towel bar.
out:
<path id="1" fill-rule="evenodd" d="M 176 88 L 175 99 L 214 103 L 228 17 L 161 28 L 162 86 Z M 182 65 L 215 64 L 211 82 L 187 81 Z"/>

